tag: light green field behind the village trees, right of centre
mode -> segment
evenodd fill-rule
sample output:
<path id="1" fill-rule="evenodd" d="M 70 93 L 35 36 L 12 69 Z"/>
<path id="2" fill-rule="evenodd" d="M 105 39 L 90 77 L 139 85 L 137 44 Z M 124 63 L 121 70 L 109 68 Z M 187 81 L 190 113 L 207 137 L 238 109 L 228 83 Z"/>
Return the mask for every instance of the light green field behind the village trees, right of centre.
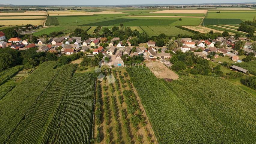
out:
<path id="1" fill-rule="evenodd" d="M 165 35 L 194 35 L 191 32 L 176 28 L 175 26 L 148 26 L 157 35 L 164 33 Z"/>

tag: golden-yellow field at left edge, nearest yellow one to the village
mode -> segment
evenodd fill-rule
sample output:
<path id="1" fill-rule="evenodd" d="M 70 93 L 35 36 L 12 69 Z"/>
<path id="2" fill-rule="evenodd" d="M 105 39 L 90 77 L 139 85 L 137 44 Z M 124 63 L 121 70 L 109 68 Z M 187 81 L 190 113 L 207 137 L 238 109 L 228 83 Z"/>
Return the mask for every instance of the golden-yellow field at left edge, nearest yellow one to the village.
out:
<path id="1" fill-rule="evenodd" d="M 20 26 L 20 25 L 44 25 L 45 20 L 0 20 L 0 25 L 5 26 Z"/>

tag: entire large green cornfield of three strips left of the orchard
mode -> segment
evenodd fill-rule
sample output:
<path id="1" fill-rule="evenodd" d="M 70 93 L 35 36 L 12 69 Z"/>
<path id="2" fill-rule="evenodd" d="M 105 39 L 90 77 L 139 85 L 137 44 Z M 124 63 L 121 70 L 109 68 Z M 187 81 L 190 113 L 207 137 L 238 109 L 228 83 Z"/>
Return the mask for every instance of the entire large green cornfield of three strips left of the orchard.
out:
<path id="1" fill-rule="evenodd" d="M 5 124 L 0 128 L 3 130 L 1 143 L 89 142 L 95 77 L 89 73 L 73 75 L 77 64 L 53 69 L 56 64 L 55 61 L 41 64 L 0 100 L 0 121 Z M 74 83 L 84 87 L 74 91 Z M 64 119 L 65 123 L 62 123 Z M 78 132 L 78 129 L 83 131 Z M 70 131 L 76 134 L 66 137 Z M 58 137 L 54 137 L 55 134 Z"/>

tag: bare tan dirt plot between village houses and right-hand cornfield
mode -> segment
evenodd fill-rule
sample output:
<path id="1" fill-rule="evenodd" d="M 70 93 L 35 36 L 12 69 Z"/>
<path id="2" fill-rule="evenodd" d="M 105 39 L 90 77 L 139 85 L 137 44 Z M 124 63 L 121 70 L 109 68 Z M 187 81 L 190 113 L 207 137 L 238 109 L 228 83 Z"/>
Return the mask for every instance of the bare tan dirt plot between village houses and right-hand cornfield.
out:
<path id="1" fill-rule="evenodd" d="M 146 66 L 158 78 L 178 79 L 179 76 L 160 62 L 147 61 Z"/>

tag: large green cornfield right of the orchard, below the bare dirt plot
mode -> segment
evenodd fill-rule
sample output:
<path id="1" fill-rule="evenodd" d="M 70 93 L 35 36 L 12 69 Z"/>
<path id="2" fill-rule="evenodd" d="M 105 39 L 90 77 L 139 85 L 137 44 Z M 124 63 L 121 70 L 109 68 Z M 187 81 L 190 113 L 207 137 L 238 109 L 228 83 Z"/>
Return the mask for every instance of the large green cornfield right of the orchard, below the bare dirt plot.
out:
<path id="1" fill-rule="evenodd" d="M 159 143 L 255 141 L 254 128 L 249 126 L 256 119 L 255 109 L 251 109 L 255 98 L 250 93 L 220 78 L 198 76 L 164 82 L 146 67 L 136 69 L 128 71 L 131 82 Z M 143 75 L 150 78 L 145 79 Z M 202 91 L 205 86 L 207 90 Z"/>

